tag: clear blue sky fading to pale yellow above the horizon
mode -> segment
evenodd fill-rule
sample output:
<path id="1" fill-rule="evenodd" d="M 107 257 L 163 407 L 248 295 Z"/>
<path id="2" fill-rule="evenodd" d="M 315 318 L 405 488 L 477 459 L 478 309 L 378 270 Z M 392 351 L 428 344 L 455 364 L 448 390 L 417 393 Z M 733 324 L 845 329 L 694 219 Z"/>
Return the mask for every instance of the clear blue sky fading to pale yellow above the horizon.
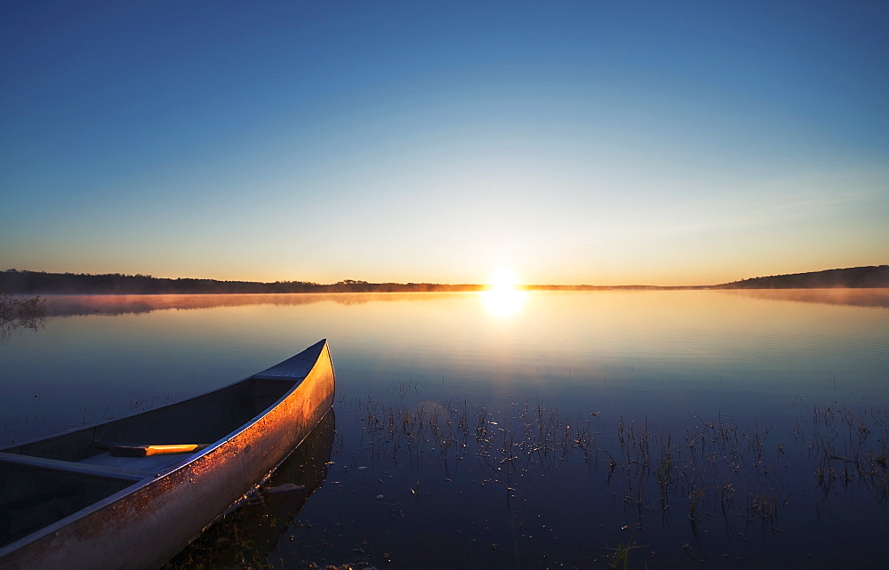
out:
<path id="1" fill-rule="evenodd" d="M 698 285 L 889 262 L 889 3 L 0 7 L 0 269 Z"/>

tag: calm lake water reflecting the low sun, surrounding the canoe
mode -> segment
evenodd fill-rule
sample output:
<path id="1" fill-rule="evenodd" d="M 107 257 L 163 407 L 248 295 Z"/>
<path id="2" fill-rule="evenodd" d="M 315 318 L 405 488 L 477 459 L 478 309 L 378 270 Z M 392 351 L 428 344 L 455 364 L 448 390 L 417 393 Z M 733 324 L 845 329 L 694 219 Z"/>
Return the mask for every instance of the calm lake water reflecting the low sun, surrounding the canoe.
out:
<path id="1" fill-rule="evenodd" d="M 311 494 L 239 510 L 179 567 L 889 567 L 885 290 L 47 309 L 0 343 L 4 445 L 191 397 L 328 339 L 334 414 L 276 475 Z"/>

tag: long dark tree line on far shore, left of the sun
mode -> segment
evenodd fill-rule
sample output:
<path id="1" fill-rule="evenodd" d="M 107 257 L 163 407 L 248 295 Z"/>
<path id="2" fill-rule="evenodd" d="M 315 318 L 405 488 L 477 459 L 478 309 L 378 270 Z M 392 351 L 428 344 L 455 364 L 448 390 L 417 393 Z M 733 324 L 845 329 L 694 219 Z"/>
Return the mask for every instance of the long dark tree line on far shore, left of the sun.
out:
<path id="1" fill-rule="evenodd" d="M 345 279 L 330 285 L 308 281 L 217 281 L 105 273 L 46 273 L 7 269 L 0 273 L 0 291 L 20 294 L 225 294 L 225 293 L 401 293 L 477 291 L 482 285 L 434 283 L 368 283 Z"/>

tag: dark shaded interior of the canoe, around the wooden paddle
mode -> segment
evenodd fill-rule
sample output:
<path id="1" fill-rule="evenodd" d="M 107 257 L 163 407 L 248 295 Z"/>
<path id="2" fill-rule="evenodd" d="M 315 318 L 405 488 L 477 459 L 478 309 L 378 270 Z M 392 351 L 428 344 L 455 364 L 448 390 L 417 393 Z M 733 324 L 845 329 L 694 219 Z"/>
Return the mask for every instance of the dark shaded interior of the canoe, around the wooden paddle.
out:
<path id="1" fill-rule="evenodd" d="M 177 404 L 2 450 L 0 548 L 201 453 L 110 457 L 108 442 L 213 444 L 263 413 L 300 381 L 250 378 Z M 25 456 L 21 461 L 26 462 L 28 457 L 52 461 L 19 464 L 3 455 L 12 460 Z M 103 475 L 103 469 L 108 474 Z M 121 477 L 117 471 L 136 475 Z"/>

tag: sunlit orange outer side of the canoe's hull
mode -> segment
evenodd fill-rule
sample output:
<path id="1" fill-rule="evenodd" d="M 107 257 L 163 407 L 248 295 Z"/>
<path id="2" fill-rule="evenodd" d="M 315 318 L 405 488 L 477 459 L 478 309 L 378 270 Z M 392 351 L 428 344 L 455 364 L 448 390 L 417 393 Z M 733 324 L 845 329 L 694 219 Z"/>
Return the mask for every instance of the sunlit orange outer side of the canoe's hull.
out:
<path id="1" fill-rule="evenodd" d="M 66 570 L 162 566 L 267 478 L 331 409 L 334 376 L 325 342 L 316 354 L 305 378 L 255 421 L 193 460 L 129 486 L 47 527 L 39 536 L 13 542 L 0 550 L 0 566 Z"/>

